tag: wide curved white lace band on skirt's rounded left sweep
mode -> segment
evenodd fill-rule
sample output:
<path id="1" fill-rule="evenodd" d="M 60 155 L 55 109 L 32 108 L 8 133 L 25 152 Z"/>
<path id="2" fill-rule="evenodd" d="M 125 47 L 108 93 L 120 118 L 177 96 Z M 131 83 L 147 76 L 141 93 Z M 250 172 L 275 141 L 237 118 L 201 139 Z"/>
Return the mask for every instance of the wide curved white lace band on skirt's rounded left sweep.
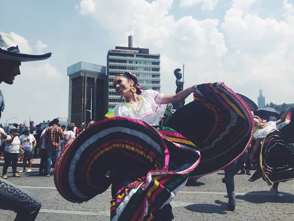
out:
<path id="1" fill-rule="evenodd" d="M 96 142 L 96 140 L 98 140 L 99 138 L 102 138 L 104 136 L 106 136 L 107 134 L 110 133 L 115 133 L 115 132 L 123 132 L 123 133 L 127 133 L 127 134 L 132 134 L 134 136 L 137 136 L 143 140 L 145 140 L 146 142 L 148 142 L 150 145 L 152 145 L 155 149 L 157 149 L 157 151 L 162 154 L 160 145 L 158 143 L 156 143 L 153 139 L 151 139 L 149 136 L 147 136 L 146 134 L 143 134 L 137 130 L 132 130 L 129 128 L 125 128 L 125 127 L 111 127 L 105 130 L 100 131 L 99 133 L 93 135 L 92 137 L 90 137 L 88 140 L 86 140 L 81 146 L 80 148 L 77 150 L 77 152 L 74 154 L 74 157 L 72 159 L 72 161 L 70 162 L 70 169 L 69 169 L 69 173 L 68 173 L 68 179 L 69 179 L 69 184 L 70 184 L 70 188 L 72 190 L 72 192 L 80 197 L 80 198 L 88 198 L 88 196 L 85 196 L 84 194 L 82 194 L 76 187 L 75 183 L 74 183 L 74 171 L 75 171 L 75 167 L 77 164 L 77 161 L 79 160 L 79 158 L 81 157 L 81 154 L 84 152 L 84 150 L 92 143 Z M 81 135 L 80 135 L 81 136 Z"/>

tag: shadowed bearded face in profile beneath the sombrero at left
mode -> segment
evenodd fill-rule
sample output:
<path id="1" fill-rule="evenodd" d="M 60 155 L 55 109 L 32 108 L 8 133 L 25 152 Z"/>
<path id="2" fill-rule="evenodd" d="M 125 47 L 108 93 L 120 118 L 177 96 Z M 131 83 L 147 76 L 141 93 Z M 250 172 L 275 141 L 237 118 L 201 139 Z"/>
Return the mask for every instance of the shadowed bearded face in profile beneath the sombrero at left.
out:
<path id="1" fill-rule="evenodd" d="M 19 66 L 21 61 L 0 60 L 0 81 L 7 84 L 13 84 L 13 80 L 17 75 L 21 74 Z"/>

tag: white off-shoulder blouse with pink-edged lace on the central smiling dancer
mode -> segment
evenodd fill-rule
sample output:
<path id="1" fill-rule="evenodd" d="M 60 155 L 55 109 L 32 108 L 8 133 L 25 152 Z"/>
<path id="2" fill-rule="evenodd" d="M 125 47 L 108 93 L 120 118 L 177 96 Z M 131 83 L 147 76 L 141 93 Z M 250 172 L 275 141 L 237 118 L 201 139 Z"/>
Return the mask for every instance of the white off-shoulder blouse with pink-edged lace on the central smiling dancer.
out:
<path id="1" fill-rule="evenodd" d="M 141 95 L 144 99 L 144 105 L 140 113 L 135 114 L 131 107 L 127 107 L 124 103 L 119 103 L 114 108 L 114 115 L 138 119 L 150 125 L 158 125 L 166 109 L 166 104 L 160 104 L 164 94 L 153 90 L 145 90 Z M 133 103 L 132 105 L 138 110 L 138 105 L 140 106 L 141 102 Z"/>

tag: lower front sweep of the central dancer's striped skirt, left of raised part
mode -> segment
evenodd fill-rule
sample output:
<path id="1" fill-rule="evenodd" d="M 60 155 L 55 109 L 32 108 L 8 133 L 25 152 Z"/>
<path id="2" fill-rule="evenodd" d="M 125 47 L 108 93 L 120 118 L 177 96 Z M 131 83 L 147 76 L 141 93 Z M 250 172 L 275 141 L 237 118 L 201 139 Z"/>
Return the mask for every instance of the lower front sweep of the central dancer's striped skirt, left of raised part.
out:
<path id="1" fill-rule="evenodd" d="M 111 220 L 152 220 L 199 161 L 193 144 L 173 143 L 142 121 L 114 117 L 87 128 L 62 152 L 54 178 L 58 192 L 77 203 L 112 184 Z"/>

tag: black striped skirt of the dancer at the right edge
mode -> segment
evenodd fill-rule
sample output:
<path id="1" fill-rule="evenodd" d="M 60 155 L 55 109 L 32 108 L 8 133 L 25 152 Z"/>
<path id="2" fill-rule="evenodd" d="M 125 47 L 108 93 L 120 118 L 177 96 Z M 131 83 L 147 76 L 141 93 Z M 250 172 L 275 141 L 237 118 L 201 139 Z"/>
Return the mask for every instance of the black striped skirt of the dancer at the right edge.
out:
<path id="1" fill-rule="evenodd" d="M 262 177 L 270 186 L 272 182 L 294 179 L 294 109 L 288 125 L 270 131 L 264 138 L 259 156 Z"/>

